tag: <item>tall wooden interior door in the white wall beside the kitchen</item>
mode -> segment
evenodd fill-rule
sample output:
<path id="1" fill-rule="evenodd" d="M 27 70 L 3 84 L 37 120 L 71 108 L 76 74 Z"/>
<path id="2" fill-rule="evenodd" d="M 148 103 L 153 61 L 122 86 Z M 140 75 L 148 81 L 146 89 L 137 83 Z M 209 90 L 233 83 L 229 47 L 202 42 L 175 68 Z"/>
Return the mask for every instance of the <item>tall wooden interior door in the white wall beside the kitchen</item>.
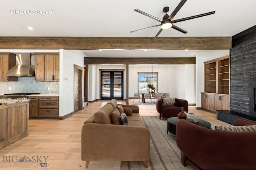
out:
<path id="1" fill-rule="evenodd" d="M 83 68 L 76 66 L 74 68 L 74 112 L 81 110 L 82 104 L 82 73 Z"/>

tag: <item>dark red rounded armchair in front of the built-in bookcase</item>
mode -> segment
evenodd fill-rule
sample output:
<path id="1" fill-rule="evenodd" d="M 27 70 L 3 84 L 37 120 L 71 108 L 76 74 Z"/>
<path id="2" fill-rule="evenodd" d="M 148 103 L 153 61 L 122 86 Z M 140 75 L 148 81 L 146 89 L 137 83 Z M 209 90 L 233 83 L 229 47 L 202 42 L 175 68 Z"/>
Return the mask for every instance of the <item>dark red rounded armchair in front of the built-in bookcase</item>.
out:
<path id="1" fill-rule="evenodd" d="M 163 99 L 158 99 L 156 101 L 156 110 L 159 115 L 159 119 L 162 118 L 169 118 L 169 117 L 175 117 L 178 116 L 178 114 L 181 111 L 180 107 L 184 107 L 184 111 L 188 112 L 188 101 L 183 99 L 177 99 L 175 98 L 175 104 L 174 106 L 163 106 Z"/>

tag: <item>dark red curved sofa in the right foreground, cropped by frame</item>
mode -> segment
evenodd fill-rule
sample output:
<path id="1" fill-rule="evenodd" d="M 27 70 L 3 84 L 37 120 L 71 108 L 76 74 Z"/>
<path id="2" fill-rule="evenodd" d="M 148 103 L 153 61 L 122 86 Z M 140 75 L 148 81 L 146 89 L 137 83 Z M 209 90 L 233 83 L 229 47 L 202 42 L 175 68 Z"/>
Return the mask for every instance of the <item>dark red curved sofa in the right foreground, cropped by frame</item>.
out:
<path id="1" fill-rule="evenodd" d="M 237 125 L 256 125 L 238 119 Z M 231 125 L 230 125 L 231 126 Z M 200 127 L 187 120 L 176 124 L 176 143 L 181 162 L 197 170 L 255 170 L 256 132 L 226 132 Z"/>

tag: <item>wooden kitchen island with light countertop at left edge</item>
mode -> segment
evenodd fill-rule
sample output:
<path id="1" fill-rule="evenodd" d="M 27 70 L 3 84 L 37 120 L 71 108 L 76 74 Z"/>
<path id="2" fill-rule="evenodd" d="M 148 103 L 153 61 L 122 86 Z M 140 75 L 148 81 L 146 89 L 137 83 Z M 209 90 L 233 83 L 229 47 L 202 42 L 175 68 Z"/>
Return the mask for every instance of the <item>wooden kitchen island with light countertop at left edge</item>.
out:
<path id="1" fill-rule="evenodd" d="M 28 99 L 0 99 L 0 149 L 28 136 Z"/>

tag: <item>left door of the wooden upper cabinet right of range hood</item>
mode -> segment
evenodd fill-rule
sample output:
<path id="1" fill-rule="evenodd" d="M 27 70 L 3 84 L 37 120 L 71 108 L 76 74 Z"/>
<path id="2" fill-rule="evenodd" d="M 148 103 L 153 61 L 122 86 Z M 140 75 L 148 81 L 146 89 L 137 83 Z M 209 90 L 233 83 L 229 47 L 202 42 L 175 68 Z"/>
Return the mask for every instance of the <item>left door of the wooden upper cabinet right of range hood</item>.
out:
<path id="1" fill-rule="evenodd" d="M 44 54 L 35 55 L 35 80 L 44 82 Z"/>

